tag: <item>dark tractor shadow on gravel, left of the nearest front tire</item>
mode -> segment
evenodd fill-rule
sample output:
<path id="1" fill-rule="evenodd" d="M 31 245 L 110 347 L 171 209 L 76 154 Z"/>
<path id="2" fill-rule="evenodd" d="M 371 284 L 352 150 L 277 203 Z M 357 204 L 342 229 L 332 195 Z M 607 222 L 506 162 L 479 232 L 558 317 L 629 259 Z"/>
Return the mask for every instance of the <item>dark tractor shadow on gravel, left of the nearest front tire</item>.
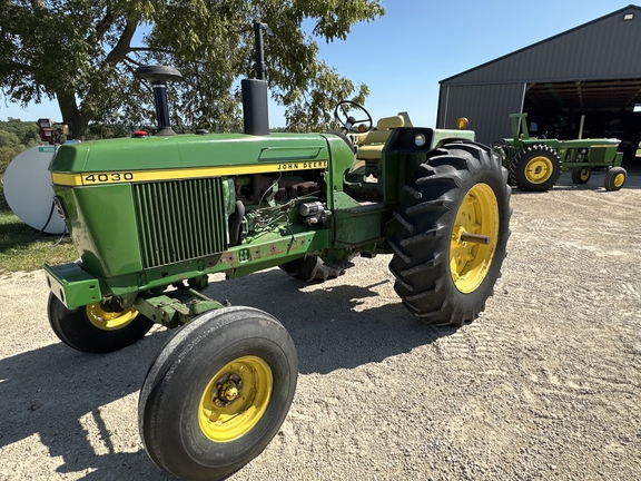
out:
<path id="1" fill-rule="evenodd" d="M 145 451 L 129 441 L 129 433 L 109 432 L 101 415 L 101 406 L 140 389 L 167 336 L 159 332 L 106 355 L 82 354 L 59 343 L 0 360 L 0 448 L 37 435 L 50 457 L 61 458 L 57 470 L 61 475 L 91 470 L 82 479 L 172 479 L 162 477 Z M 97 431 L 99 450 L 89 443 L 87 426 Z M 136 425 L 131 432 L 137 433 Z M 116 453 L 115 436 L 136 452 Z M 21 462 L 37 467 L 38 455 L 24 453 Z"/>

